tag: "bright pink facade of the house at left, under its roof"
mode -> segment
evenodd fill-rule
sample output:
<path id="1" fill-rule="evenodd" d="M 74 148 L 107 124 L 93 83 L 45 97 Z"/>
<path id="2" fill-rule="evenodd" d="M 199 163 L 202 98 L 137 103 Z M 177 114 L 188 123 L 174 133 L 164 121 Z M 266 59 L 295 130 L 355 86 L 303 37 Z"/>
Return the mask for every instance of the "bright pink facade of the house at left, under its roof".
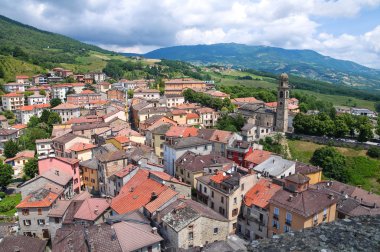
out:
<path id="1" fill-rule="evenodd" d="M 50 169 L 63 171 L 73 176 L 73 191 L 80 193 L 79 160 L 75 158 L 49 157 L 38 160 L 38 173 L 43 174 Z"/>

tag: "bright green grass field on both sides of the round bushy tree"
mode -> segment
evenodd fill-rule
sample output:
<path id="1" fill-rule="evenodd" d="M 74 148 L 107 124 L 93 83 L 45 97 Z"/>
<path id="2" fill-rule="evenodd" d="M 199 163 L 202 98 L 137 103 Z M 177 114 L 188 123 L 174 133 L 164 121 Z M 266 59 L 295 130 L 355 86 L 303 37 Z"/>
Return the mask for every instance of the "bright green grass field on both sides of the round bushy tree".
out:
<path id="1" fill-rule="evenodd" d="M 314 151 L 325 145 L 300 140 L 288 140 L 293 160 L 310 163 Z M 361 185 L 366 190 L 380 194 L 380 160 L 370 158 L 365 150 L 335 147 L 346 157 L 351 175 L 350 184 Z"/>

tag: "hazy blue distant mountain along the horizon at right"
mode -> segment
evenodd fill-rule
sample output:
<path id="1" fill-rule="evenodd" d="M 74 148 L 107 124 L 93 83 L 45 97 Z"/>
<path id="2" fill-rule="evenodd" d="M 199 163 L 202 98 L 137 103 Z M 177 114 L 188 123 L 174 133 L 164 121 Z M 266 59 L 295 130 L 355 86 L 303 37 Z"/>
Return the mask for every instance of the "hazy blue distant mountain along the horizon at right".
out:
<path id="1" fill-rule="evenodd" d="M 143 56 L 202 65 L 218 64 L 236 68 L 253 68 L 271 73 L 288 72 L 355 88 L 380 89 L 380 70 L 323 56 L 312 50 L 287 50 L 231 43 L 173 46 L 157 49 Z"/>

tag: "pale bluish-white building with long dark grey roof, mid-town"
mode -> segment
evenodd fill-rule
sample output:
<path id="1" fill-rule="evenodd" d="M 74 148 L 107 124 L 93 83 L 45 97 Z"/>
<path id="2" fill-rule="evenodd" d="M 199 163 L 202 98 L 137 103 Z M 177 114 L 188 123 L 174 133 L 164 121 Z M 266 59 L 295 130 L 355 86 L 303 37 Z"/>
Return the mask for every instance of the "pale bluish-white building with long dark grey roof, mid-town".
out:
<path id="1" fill-rule="evenodd" d="M 164 167 L 167 173 L 175 176 L 175 161 L 187 151 L 207 155 L 212 151 L 212 143 L 199 137 L 178 138 L 164 143 Z"/>

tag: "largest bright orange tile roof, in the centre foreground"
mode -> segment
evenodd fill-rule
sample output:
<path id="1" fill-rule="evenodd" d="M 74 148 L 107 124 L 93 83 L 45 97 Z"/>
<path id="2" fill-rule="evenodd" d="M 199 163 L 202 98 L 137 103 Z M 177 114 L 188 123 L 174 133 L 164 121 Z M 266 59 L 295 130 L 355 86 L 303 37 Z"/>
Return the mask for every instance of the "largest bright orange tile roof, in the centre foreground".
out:
<path id="1" fill-rule="evenodd" d="M 158 198 L 167 186 L 148 178 L 148 171 L 139 170 L 112 200 L 112 209 L 118 214 L 128 213 L 147 205 L 152 195 Z M 157 199 L 156 199 L 157 200 Z"/>

